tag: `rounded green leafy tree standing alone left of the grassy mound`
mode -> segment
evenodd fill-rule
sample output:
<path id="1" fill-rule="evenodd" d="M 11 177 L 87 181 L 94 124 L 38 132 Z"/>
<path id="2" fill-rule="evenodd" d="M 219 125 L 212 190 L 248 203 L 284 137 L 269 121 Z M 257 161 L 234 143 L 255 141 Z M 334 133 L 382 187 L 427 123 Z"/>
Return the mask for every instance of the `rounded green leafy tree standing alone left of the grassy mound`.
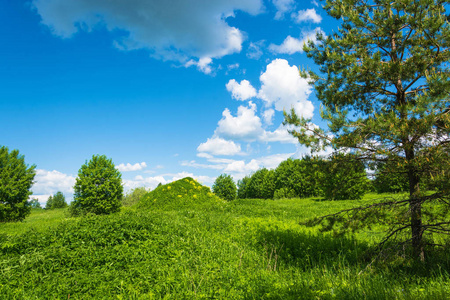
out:
<path id="1" fill-rule="evenodd" d="M 117 212 L 123 194 L 121 174 L 111 159 L 94 155 L 78 171 L 74 191 L 70 205 L 72 215 Z"/>

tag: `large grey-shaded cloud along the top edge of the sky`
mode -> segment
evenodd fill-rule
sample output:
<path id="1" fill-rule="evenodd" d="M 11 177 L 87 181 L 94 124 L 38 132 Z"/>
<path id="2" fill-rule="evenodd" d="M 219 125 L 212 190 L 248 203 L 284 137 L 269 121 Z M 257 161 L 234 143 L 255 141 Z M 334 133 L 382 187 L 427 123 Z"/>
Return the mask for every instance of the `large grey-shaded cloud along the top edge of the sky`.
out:
<path id="1" fill-rule="evenodd" d="M 227 24 L 235 11 L 258 14 L 262 0 L 33 0 L 42 23 L 55 35 L 71 37 L 99 26 L 122 35 L 122 50 L 148 49 L 163 60 L 211 72 L 211 59 L 240 52 L 243 33 Z M 119 29 L 120 31 L 117 31 Z"/>

